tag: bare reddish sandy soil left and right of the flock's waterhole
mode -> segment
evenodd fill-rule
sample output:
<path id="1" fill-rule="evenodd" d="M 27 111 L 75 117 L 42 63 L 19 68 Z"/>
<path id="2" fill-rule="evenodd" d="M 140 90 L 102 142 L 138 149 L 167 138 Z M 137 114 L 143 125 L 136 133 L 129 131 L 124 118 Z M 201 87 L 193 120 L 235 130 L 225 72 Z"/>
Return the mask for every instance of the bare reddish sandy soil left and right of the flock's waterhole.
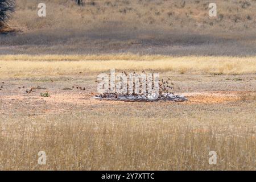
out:
<path id="1" fill-rule="evenodd" d="M 216 104 L 229 101 L 241 100 L 245 94 L 254 92 L 190 92 L 182 93 L 188 98 L 188 101 L 181 102 L 184 104 Z M 255 93 L 254 93 L 255 94 Z M 29 96 L 29 95 L 15 95 L 15 96 L 1 96 L 3 102 L 11 104 L 12 102 L 25 102 L 28 105 L 49 105 L 50 109 L 45 110 L 47 113 L 51 110 L 65 110 L 67 105 L 98 105 L 101 103 L 108 104 L 123 104 L 124 101 L 106 101 L 96 100 L 93 98 L 94 93 L 61 93 L 51 94 L 50 97 Z M 159 102 L 161 103 L 161 102 Z M 172 103 L 172 102 L 168 102 Z M 127 104 L 127 102 L 126 102 Z"/>

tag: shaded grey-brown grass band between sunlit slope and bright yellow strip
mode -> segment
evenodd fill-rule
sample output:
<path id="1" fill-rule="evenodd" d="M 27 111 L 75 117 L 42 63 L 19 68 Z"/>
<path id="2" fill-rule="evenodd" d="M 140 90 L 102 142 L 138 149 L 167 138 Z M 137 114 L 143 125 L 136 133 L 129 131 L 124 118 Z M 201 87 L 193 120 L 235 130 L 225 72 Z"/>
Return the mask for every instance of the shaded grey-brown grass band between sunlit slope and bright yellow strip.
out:
<path id="1" fill-rule="evenodd" d="M 174 56 L 256 55 L 254 34 L 163 30 L 38 30 L 0 34 L 0 54 L 139 53 Z"/>

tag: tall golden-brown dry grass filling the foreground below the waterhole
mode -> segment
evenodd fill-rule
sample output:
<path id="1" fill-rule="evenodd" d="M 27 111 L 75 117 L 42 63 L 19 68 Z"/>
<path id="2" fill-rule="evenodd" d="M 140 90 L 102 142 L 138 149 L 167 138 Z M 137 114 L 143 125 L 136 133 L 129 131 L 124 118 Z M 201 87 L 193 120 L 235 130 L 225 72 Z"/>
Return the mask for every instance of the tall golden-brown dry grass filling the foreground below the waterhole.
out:
<path id="1" fill-rule="evenodd" d="M 0 103 L 1 169 L 255 170 L 255 101 L 8 102 Z M 47 164 L 40 166 L 42 150 Z M 208 163 L 209 151 L 217 152 L 216 165 Z"/>

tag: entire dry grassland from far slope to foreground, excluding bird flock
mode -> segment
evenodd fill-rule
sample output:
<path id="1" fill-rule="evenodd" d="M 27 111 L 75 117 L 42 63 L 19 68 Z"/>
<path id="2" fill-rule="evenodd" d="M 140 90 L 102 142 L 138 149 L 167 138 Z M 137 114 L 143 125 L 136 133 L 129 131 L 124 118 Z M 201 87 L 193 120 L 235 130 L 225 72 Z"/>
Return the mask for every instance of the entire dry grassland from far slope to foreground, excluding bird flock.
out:
<path id="1" fill-rule="evenodd" d="M 256 170 L 255 0 L 39 2 L 0 33 L 0 170 Z M 188 101 L 94 99 L 113 68 Z"/>

